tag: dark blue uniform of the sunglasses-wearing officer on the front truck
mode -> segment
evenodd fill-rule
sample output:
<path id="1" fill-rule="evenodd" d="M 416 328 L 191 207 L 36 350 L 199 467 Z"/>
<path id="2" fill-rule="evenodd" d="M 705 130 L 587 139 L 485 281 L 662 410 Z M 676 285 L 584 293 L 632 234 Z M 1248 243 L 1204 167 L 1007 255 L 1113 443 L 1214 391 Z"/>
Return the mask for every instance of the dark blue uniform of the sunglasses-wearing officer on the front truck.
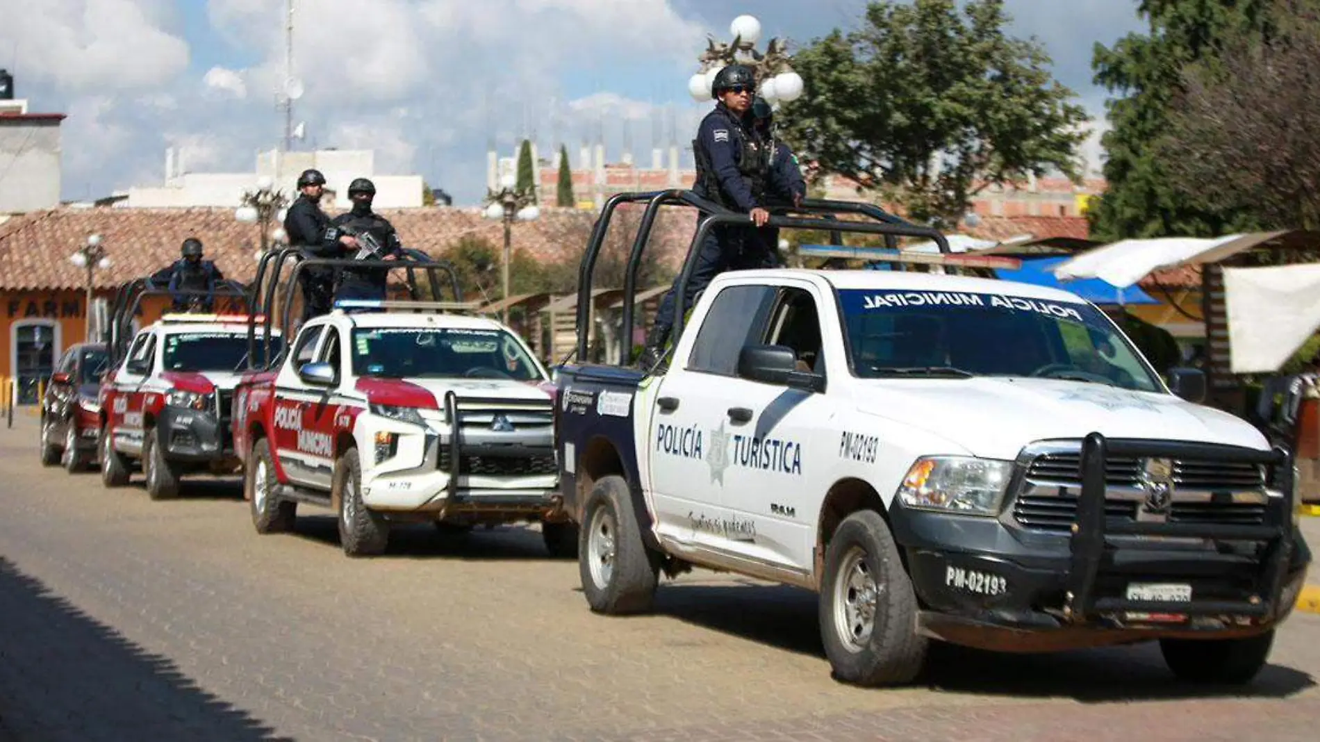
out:
<path id="1" fill-rule="evenodd" d="M 739 118 L 723 103 L 706 114 L 693 143 L 697 160 L 697 182 L 692 190 L 731 211 L 748 213 L 764 206 L 770 170 L 766 141 L 752 128 L 751 115 Z M 684 292 L 684 306 L 692 309 L 693 298 L 723 271 L 771 268 L 777 264 L 774 252 L 760 250 L 755 227 L 725 224 L 713 228 L 697 246 L 696 264 Z M 664 345 L 673 327 L 675 296 L 678 280 L 660 301 L 656 323 L 647 345 Z"/>

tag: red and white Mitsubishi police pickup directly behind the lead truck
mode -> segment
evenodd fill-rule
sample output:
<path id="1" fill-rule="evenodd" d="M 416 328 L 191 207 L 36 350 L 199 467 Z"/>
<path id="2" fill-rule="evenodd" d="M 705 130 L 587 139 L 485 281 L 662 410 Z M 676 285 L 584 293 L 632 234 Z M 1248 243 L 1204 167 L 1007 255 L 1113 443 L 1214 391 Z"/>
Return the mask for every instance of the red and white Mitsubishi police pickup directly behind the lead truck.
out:
<path id="1" fill-rule="evenodd" d="M 550 378 L 523 339 L 444 302 L 350 304 L 366 312 L 308 321 L 273 368 L 238 387 L 234 440 L 257 532 L 292 529 L 305 503 L 338 512 L 348 556 L 381 553 L 392 522 L 540 522 L 550 552 L 574 556 Z"/>

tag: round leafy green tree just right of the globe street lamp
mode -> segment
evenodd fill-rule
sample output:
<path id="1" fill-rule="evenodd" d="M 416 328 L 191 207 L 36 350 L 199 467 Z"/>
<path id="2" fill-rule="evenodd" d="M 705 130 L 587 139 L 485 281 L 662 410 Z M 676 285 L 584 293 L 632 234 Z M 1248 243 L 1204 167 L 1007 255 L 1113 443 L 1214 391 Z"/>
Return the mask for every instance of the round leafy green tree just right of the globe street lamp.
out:
<path id="1" fill-rule="evenodd" d="M 1078 178 L 1085 111 L 1008 20 L 1003 0 L 870 3 L 859 30 L 795 55 L 807 90 L 781 116 L 787 139 L 923 222 L 957 223 L 990 185 Z"/>

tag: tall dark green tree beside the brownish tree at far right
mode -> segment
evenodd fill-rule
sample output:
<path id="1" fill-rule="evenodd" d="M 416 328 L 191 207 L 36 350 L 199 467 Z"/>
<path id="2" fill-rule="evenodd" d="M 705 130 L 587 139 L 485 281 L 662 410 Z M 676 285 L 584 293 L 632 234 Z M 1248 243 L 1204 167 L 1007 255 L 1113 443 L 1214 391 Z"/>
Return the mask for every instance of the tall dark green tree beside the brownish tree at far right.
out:
<path id="1" fill-rule="evenodd" d="M 1152 147 L 1168 129 L 1184 91 L 1183 70 L 1218 55 L 1224 40 L 1259 28 L 1269 0 L 1142 0 L 1148 33 L 1130 33 L 1113 48 L 1096 45 L 1096 83 L 1115 94 L 1105 103 L 1105 194 L 1088 210 L 1100 239 L 1217 235 L 1253 228 L 1249 214 L 1184 198 Z"/>

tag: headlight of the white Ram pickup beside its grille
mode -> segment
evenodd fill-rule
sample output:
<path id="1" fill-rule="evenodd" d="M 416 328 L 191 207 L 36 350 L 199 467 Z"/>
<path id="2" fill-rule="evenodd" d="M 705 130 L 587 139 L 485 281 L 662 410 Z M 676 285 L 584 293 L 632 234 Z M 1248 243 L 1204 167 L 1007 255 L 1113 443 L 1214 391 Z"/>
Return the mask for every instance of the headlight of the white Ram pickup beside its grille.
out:
<path id="1" fill-rule="evenodd" d="M 919 458 L 899 486 L 907 507 L 997 515 L 1012 477 L 1011 461 L 937 455 Z"/>

